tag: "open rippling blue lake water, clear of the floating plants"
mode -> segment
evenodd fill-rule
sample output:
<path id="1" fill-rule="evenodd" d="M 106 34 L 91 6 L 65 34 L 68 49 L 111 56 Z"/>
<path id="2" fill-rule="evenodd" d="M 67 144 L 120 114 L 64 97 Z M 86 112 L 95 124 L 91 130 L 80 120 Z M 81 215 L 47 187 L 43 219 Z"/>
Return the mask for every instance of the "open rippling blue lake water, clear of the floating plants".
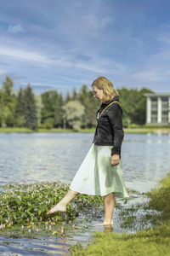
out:
<path id="1" fill-rule="evenodd" d="M 31 133 L 0 134 L 0 186 L 7 183 L 35 183 L 71 179 L 88 153 L 93 134 Z M 126 134 L 122 143 L 123 176 L 127 188 L 145 192 L 170 172 L 170 136 Z M 114 231 L 120 232 L 118 212 Z M 91 231 L 102 230 L 91 223 Z M 71 243 L 87 241 L 84 234 L 58 239 L 37 236 L 17 239 L 0 236 L 0 254 L 62 255 Z M 14 254 L 13 254 L 14 255 Z"/>

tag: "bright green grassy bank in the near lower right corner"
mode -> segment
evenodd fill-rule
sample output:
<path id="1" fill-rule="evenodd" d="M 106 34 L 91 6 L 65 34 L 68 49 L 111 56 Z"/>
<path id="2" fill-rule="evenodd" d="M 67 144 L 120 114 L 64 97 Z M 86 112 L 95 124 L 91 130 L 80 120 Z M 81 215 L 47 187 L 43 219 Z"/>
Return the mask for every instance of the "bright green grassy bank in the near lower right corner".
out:
<path id="1" fill-rule="evenodd" d="M 81 244 L 71 247 L 71 255 L 115 255 L 115 256 L 169 256 L 170 255 L 170 174 L 161 184 L 152 189 L 147 196 L 150 201 L 144 204 L 144 210 L 156 211 L 156 214 L 145 216 L 154 226 L 140 230 L 135 234 L 94 233 L 94 239 L 88 247 Z M 158 211 L 158 212 L 157 212 Z M 136 220 L 133 219 L 133 222 Z"/>

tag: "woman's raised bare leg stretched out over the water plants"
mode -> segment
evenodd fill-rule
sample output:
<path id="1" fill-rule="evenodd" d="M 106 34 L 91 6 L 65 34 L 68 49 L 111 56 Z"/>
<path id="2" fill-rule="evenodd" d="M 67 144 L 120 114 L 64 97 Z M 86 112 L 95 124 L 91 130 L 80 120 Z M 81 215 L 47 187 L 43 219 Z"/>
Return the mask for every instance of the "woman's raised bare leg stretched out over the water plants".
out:
<path id="1" fill-rule="evenodd" d="M 66 206 L 78 194 L 79 194 L 78 192 L 69 189 L 65 197 L 63 197 L 63 199 L 59 201 L 59 203 L 56 206 L 50 209 L 49 212 L 46 213 L 46 215 L 53 214 L 54 212 L 66 212 Z"/>

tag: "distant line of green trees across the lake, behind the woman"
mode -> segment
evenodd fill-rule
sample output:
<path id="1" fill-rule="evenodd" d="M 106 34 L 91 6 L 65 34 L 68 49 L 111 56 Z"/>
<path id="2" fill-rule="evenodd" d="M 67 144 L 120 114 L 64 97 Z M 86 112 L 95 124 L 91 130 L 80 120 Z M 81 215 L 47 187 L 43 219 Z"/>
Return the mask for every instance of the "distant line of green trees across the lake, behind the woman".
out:
<path id="1" fill-rule="evenodd" d="M 6 78 L 0 88 L 0 127 L 38 128 L 93 128 L 100 102 L 94 99 L 93 91 L 83 84 L 80 91 L 72 90 L 64 99 L 57 90 L 48 90 L 37 96 L 28 84 L 26 89 L 13 91 L 13 81 Z M 117 90 L 123 109 L 123 125 L 143 125 L 146 115 L 148 89 Z"/>

